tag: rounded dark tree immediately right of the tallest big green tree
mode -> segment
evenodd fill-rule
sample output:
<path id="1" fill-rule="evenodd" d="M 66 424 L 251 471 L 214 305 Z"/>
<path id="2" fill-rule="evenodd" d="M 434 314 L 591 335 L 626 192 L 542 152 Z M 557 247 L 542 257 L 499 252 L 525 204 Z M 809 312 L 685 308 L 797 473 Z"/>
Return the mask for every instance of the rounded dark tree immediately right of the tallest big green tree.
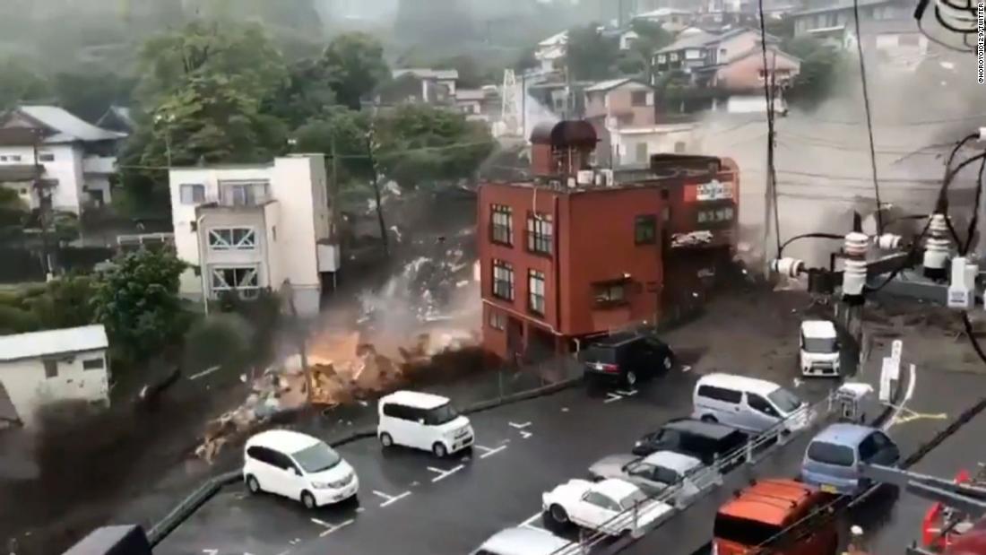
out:
<path id="1" fill-rule="evenodd" d="M 333 38 L 321 63 L 339 103 L 352 109 L 359 109 L 360 100 L 389 78 L 384 46 L 365 33 Z"/>

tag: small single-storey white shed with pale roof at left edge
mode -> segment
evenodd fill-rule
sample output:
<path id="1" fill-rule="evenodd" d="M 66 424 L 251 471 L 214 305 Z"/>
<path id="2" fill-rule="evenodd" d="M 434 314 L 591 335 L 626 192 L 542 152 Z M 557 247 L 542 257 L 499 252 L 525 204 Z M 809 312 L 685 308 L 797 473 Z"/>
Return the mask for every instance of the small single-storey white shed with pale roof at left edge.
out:
<path id="1" fill-rule="evenodd" d="M 108 403 L 108 346 L 102 324 L 0 336 L 0 404 L 30 426 L 53 401 Z"/>

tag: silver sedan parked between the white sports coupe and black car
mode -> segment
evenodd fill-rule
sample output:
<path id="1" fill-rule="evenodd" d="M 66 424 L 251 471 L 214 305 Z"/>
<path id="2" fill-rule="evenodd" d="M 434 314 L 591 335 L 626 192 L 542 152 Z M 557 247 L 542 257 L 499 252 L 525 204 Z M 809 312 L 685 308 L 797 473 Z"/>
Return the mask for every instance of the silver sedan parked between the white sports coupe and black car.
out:
<path id="1" fill-rule="evenodd" d="M 593 463 L 589 467 L 589 474 L 596 480 L 626 480 L 650 497 L 669 486 L 677 486 L 679 489 L 674 502 L 684 504 L 701 491 L 701 486 L 711 485 L 710 482 L 700 486 L 692 479 L 692 474 L 701 468 L 702 461 L 694 456 L 674 451 L 658 451 L 644 457 L 611 454 Z"/>

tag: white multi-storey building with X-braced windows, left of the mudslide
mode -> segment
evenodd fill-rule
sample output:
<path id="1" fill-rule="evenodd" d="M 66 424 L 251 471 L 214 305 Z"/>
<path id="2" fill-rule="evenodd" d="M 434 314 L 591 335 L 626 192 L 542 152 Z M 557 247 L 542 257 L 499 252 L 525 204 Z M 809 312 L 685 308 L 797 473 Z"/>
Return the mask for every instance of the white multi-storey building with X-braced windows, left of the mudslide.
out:
<path id="1" fill-rule="evenodd" d="M 182 295 L 248 299 L 290 283 L 298 312 L 318 313 L 322 277 L 339 267 L 322 155 L 175 168 L 170 182 L 177 255 L 191 266 Z"/>

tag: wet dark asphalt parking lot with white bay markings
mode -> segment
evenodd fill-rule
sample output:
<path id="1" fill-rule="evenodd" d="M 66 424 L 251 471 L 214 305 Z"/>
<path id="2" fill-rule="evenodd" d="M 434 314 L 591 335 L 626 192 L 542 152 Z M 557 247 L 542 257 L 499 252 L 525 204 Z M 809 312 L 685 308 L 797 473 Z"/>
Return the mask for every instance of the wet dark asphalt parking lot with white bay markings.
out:
<path id="1" fill-rule="evenodd" d="M 158 548 L 165 555 L 214 553 L 467 553 L 510 525 L 540 525 L 540 495 L 585 477 L 601 456 L 627 452 L 646 432 L 691 410 L 691 373 L 636 390 L 575 387 L 471 417 L 471 457 L 383 451 L 374 440 L 340 448 L 356 468 L 358 503 L 305 511 L 287 500 L 230 487 Z M 809 398 L 831 382 L 802 383 Z M 800 456 L 800 454 L 799 454 Z"/>

